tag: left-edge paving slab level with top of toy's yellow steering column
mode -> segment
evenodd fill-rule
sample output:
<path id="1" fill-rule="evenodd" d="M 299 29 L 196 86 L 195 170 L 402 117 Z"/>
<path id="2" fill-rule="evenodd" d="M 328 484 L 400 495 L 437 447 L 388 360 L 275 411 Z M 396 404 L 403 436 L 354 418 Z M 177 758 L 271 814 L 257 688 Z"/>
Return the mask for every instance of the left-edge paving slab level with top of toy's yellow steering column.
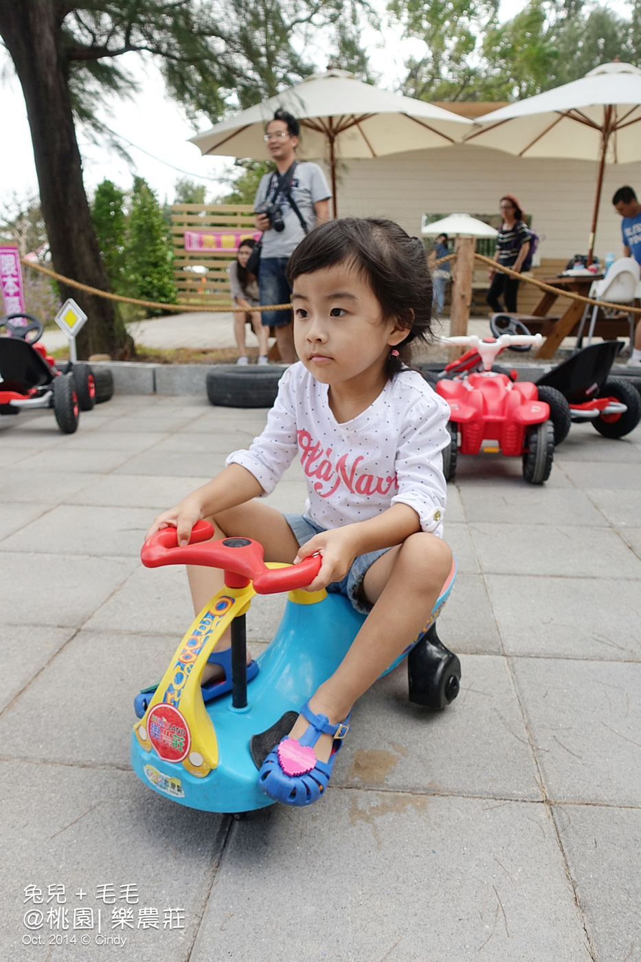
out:
<path id="1" fill-rule="evenodd" d="M 0 624 L 5 625 L 79 628 L 138 567 L 134 558 L 27 551 L 7 559 L 0 579 Z"/>

